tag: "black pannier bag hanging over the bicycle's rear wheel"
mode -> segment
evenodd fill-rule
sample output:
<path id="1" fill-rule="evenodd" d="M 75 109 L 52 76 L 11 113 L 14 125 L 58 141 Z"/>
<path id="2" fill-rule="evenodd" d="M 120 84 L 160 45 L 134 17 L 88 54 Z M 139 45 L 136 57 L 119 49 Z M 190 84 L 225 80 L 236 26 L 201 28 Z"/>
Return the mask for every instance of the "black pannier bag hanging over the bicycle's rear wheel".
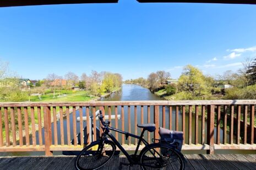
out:
<path id="1" fill-rule="evenodd" d="M 181 151 L 183 144 L 183 132 L 170 131 L 168 129 L 160 127 L 159 135 L 161 137 L 161 143 L 171 144 L 174 148 Z"/>

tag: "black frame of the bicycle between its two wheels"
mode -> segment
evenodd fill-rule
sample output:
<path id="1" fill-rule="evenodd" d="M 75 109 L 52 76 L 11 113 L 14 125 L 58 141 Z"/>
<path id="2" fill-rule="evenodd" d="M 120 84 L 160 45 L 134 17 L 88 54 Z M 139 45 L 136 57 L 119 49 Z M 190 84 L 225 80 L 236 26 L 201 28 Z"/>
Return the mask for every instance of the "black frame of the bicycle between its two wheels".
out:
<path id="1" fill-rule="evenodd" d="M 122 133 L 122 134 L 125 134 L 126 135 L 126 139 L 128 137 L 133 137 L 133 138 L 137 138 L 139 139 L 139 142 L 137 144 L 137 147 L 136 147 L 136 150 L 134 152 L 134 156 L 137 156 L 137 153 L 138 153 L 138 150 L 139 150 L 139 146 L 140 146 L 140 143 L 143 142 L 145 144 L 145 147 L 149 145 L 149 143 L 143 139 L 143 134 L 145 132 L 145 129 L 143 129 L 143 131 L 141 132 L 141 135 L 138 136 L 138 135 L 134 135 L 132 133 L 128 133 L 128 132 L 124 132 L 124 131 L 121 131 L 119 129 L 116 129 L 116 128 L 113 128 L 113 127 L 101 127 L 103 130 L 104 130 L 104 134 L 107 135 L 108 137 L 110 137 L 110 139 L 113 141 L 113 143 L 116 144 L 116 146 L 123 152 L 124 155 L 126 155 L 126 157 L 128 158 L 128 161 L 130 163 L 137 163 L 138 164 L 138 161 L 135 161 L 132 156 L 130 156 L 128 154 L 128 152 L 123 148 L 123 146 L 116 140 L 116 138 L 111 134 L 110 131 L 116 131 L 118 133 Z"/>

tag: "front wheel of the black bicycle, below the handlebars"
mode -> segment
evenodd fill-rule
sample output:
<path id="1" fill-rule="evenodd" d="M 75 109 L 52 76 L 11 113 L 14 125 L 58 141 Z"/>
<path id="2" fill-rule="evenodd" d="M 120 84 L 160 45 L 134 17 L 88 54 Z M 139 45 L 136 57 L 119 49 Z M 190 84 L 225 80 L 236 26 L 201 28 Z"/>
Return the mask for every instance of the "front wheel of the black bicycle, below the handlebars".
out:
<path id="1" fill-rule="evenodd" d="M 104 166 L 116 150 L 115 144 L 110 140 L 105 140 L 104 144 L 97 140 L 86 146 L 75 159 L 75 168 L 80 170 L 98 169 Z"/>

